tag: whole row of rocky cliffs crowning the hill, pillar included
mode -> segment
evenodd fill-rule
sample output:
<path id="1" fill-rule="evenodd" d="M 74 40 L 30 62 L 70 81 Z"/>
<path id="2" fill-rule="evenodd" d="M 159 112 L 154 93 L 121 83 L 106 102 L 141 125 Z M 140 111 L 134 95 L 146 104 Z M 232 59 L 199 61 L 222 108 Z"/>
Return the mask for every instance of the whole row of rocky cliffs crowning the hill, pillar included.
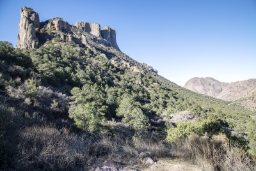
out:
<path id="1" fill-rule="evenodd" d="M 70 43 L 75 42 L 89 47 L 90 42 L 93 41 L 120 50 L 116 43 L 116 31 L 113 28 L 106 26 L 100 30 L 100 24 L 88 22 L 77 22 L 73 27 L 59 17 L 40 22 L 38 13 L 32 8 L 21 8 L 17 48 L 38 48 L 44 45 L 45 41 L 56 37 L 61 40 L 68 37 Z"/>

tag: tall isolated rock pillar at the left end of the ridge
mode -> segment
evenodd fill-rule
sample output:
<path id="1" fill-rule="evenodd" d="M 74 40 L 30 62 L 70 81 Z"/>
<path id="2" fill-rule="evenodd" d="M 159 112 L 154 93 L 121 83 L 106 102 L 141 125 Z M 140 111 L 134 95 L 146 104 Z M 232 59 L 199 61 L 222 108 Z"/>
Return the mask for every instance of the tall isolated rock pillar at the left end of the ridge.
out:
<path id="1" fill-rule="evenodd" d="M 39 15 L 26 6 L 20 10 L 19 36 L 17 48 L 37 48 L 36 28 L 40 27 Z"/>

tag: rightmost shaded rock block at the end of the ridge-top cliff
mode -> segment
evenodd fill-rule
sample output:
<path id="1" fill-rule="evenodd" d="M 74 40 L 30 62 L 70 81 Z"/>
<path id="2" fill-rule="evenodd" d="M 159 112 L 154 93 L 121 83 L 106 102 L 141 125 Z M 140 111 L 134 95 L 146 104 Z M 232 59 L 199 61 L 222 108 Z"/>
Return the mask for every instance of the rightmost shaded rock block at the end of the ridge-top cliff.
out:
<path id="1" fill-rule="evenodd" d="M 110 28 L 109 26 L 103 27 L 103 29 L 100 31 L 102 38 L 107 40 L 111 43 L 112 47 L 115 47 L 119 50 L 119 47 L 116 43 L 116 31 L 113 28 Z"/>

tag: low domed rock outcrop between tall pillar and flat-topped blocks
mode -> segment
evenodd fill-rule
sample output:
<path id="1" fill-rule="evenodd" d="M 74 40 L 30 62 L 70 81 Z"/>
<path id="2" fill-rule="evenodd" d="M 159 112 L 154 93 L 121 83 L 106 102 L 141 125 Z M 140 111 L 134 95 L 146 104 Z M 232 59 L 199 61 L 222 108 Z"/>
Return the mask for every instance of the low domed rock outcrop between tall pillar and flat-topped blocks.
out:
<path id="1" fill-rule="evenodd" d="M 68 22 L 60 19 L 60 18 L 56 18 L 53 20 L 50 20 L 48 22 L 48 24 L 46 24 L 44 26 L 45 29 L 52 29 L 54 28 L 56 31 L 71 31 L 71 28 L 68 24 Z"/>

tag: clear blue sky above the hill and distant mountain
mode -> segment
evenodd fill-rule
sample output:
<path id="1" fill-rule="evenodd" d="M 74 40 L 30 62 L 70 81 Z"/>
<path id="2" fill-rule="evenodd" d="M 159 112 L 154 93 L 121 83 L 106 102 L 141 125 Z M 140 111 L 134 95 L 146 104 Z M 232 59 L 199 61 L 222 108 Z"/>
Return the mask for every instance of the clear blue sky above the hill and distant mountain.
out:
<path id="1" fill-rule="evenodd" d="M 182 86 L 192 77 L 256 78 L 255 0 L 0 0 L 0 40 L 17 44 L 22 6 L 40 21 L 114 27 L 122 52 Z"/>

